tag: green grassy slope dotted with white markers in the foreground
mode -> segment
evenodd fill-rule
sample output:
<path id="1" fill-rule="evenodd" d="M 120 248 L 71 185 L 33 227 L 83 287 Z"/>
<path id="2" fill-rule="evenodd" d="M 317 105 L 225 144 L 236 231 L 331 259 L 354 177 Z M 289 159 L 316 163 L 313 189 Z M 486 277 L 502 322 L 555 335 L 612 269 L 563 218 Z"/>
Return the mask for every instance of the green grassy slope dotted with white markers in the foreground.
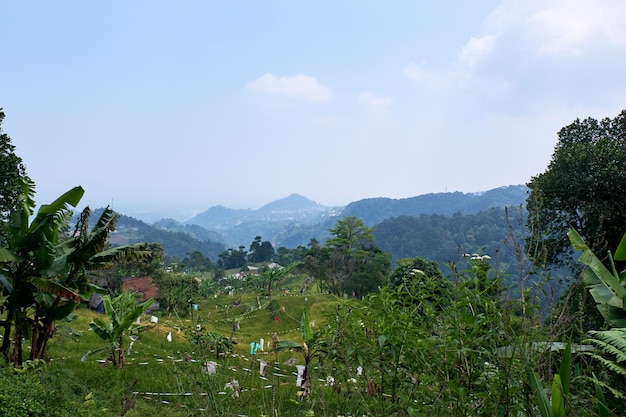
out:
<path id="1" fill-rule="evenodd" d="M 315 371 L 315 400 L 298 401 L 295 365 L 302 363 L 301 358 L 296 352 L 277 355 L 268 349 L 274 333 L 281 340 L 302 342 L 300 318 L 304 307 L 310 309 L 311 319 L 319 327 L 325 312 L 333 311 L 340 300 L 329 295 L 283 294 L 272 298 L 280 306 L 278 321 L 266 309 L 271 298 L 257 295 L 222 295 L 201 301 L 197 311 L 161 314 L 157 325 L 139 335 L 126 355 L 124 369 L 102 363 L 104 353 L 81 361 L 102 341 L 89 330 L 89 322 L 97 313 L 78 310 L 78 318 L 70 324 L 82 335 L 74 340 L 59 330 L 50 343 L 51 361 L 40 374 L 42 402 L 48 410 L 59 410 L 58 414 L 47 415 L 288 416 L 310 413 L 312 409 L 317 411 L 315 415 L 345 410 L 350 404 L 325 386 L 327 375 L 321 368 Z M 217 372 L 209 376 L 205 363 L 215 360 L 215 353 L 201 351 L 185 338 L 185 331 L 200 325 L 231 336 L 233 320 L 239 323 L 233 335 L 237 344 L 232 355 L 217 361 Z M 168 342 L 170 332 L 172 341 Z M 250 355 L 249 343 L 261 338 L 265 350 Z M 128 339 L 126 343 L 128 349 Z M 265 376 L 259 374 L 261 360 L 268 363 Z M 233 381 L 237 381 L 238 389 L 228 388 Z"/>

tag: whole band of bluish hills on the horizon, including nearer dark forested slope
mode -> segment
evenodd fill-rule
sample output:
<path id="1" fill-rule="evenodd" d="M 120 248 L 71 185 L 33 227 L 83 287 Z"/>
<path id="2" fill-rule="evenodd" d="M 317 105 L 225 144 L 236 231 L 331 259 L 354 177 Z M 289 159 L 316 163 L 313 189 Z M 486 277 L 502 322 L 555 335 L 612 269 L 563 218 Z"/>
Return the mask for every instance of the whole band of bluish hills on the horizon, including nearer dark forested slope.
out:
<path id="1" fill-rule="evenodd" d="M 394 259 L 422 256 L 443 263 L 451 260 L 460 246 L 473 252 L 500 244 L 507 233 L 504 207 L 523 206 L 526 192 L 525 186 L 507 186 L 473 194 L 372 198 L 344 208 L 324 207 L 294 194 L 257 210 L 213 207 L 186 224 L 163 219 L 150 225 L 121 215 L 110 238 L 113 244 L 160 243 L 168 256 L 183 258 L 199 251 L 216 260 L 227 248 L 247 248 L 256 236 L 275 248 L 307 246 L 312 238 L 323 242 L 340 217 L 357 216 L 375 227 L 376 244 Z M 490 208 L 499 210 L 473 216 Z M 92 219 L 98 217 L 97 212 Z"/>

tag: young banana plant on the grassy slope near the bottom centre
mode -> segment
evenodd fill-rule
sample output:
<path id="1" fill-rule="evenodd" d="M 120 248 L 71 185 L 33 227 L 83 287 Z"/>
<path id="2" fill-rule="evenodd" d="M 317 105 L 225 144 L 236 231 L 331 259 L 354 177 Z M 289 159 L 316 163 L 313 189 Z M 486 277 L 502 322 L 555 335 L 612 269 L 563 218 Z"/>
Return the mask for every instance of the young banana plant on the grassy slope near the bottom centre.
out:
<path id="1" fill-rule="evenodd" d="M 304 359 L 304 371 L 302 373 L 301 395 L 308 397 L 311 392 L 311 362 L 313 359 L 326 354 L 327 345 L 326 341 L 321 339 L 321 333 L 313 331 L 308 308 L 302 311 L 300 328 L 302 330 L 302 344 L 291 340 L 281 340 L 276 343 L 273 351 L 278 353 L 293 350 L 302 354 L 302 358 Z"/>

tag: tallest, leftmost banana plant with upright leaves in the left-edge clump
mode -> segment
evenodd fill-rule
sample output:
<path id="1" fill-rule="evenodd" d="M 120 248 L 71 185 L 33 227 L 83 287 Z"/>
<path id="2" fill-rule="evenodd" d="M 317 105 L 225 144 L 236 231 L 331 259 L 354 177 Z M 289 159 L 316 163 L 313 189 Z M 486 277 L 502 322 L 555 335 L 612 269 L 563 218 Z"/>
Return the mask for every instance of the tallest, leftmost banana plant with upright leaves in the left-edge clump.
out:
<path id="1" fill-rule="evenodd" d="M 57 257 L 59 236 L 71 218 L 70 207 L 76 207 L 84 194 L 81 187 L 72 188 L 51 204 L 42 205 L 30 221 L 35 208 L 34 183 L 24 178 L 21 187 L 19 210 L 10 215 L 8 239 L 0 249 L 0 282 L 6 297 L 0 351 L 16 366 L 20 366 L 23 360 L 22 340 L 40 322 L 38 313 L 41 310 L 37 309 L 37 303 L 44 300 L 37 295 L 55 294 L 67 300 L 68 305 L 81 301 L 76 291 L 54 278 L 63 274 L 66 266 Z M 57 317 L 67 316 L 66 311 L 57 309 L 55 313 Z"/>

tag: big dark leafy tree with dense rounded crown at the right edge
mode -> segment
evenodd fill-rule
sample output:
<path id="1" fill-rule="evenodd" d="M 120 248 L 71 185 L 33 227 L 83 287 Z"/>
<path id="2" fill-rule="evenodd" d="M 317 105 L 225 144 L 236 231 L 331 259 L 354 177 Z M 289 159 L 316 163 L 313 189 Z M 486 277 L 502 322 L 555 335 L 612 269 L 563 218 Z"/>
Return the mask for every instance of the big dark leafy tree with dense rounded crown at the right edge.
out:
<path id="1" fill-rule="evenodd" d="M 545 172 L 531 178 L 529 246 L 537 263 L 570 260 L 569 227 L 594 253 L 615 250 L 626 230 L 626 110 L 614 119 L 576 119 L 558 133 Z"/>

